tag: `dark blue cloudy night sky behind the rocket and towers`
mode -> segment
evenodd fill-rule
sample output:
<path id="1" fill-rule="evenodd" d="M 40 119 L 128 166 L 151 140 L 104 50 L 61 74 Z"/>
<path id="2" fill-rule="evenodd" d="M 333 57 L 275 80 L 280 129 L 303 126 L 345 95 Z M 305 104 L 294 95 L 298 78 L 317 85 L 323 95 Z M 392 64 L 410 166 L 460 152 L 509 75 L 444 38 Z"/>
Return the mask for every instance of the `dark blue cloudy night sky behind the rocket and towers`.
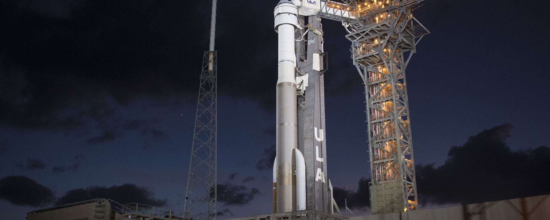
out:
<path id="1" fill-rule="evenodd" d="M 218 1 L 222 219 L 272 209 L 277 2 Z M 416 10 L 431 31 L 407 69 L 420 208 L 550 194 L 548 6 Z M 0 1 L 0 218 L 96 197 L 183 210 L 210 8 Z M 342 25 L 323 30 L 328 177 L 369 213 L 364 87 Z"/>

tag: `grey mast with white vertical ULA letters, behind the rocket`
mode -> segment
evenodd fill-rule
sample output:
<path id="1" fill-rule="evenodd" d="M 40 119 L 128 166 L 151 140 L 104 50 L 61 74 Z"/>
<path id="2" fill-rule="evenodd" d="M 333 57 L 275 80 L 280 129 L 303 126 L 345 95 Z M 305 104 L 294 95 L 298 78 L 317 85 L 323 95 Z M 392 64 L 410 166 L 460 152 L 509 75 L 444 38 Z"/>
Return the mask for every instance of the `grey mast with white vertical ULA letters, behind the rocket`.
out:
<path id="1" fill-rule="evenodd" d="M 332 193 L 327 178 L 324 124 L 323 31 L 321 18 L 299 15 L 305 26 L 296 32 L 296 84 L 298 84 L 298 149 L 306 164 L 306 209 L 333 213 Z M 307 19 L 307 20 L 306 20 Z M 318 178 L 321 175 L 321 179 Z"/>

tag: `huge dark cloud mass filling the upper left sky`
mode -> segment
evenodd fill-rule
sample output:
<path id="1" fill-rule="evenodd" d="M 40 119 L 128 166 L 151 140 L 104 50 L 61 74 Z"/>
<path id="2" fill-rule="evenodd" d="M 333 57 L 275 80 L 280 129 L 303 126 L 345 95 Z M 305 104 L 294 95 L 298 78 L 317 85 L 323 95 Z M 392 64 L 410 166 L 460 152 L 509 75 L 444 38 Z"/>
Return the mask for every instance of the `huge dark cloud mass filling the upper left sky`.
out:
<path id="1" fill-rule="evenodd" d="M 90 120 L 113 113 L 138 97 L 174 102 L 196 96 L 202 53 L 207 49 L 210 2 L 199 1 L 185 16 L 180 9 L 187 2 L 138 1 L 133 4 L 110 1 L 4 1 L 0 3 L 0 26 L 9 35 L 0 40 L 0 125 L 20 129 L 78 128 Z M 230 8 L 234 2 L 219 2 Z M 277 35 L 272 7 L 239 4 L 248 14 L 219 10 L 218 18 L 241 20 L 231 27 L 218 25 L 219 81 L 223 94 L 253 98 L 273 105 L 270 98 L 277 74 L 252 74 L 242 80 L 231 68 L 249 57 L 251 72 L 277 69 Z M 42 6 L 40 6 L 42 5 Z M 48 5 L 44 7 L 43 5 Z M 108 5 L 105 7 L 105 5 Z M 162 14 L 163 16 L 159 16 Z M 188 18 L 202 22 L 189 22 Z M 185 29 L 175 28 L 186 26 Z M 255 26 L 257 37 L 243 40 L 234 30 Z M 195 30 L 195 31 L 189 31 Z M 163 33 L 159 35 L 158 33 Z M 40 40 L 36 40 L 40 39 Z M 193 42 L 193 43 L 190 43 Z M 249 56 L 256 45 L 266 56 Z M 230 52 L 231 51 L 231 52 Z M 222 59 L 223 58 L 223 59 Z M 251 83 L 254 82 L 254 83 Z M 238 89 L 247 87 L 247 90 Z M 47 91 L 47 92 L 45 92 Z M 274 98 L 274 97 L 273 97 Z M 105 105 L 113 100 L 113 105 Z M 79 105 L 85 104 L 84 107 Z"/>

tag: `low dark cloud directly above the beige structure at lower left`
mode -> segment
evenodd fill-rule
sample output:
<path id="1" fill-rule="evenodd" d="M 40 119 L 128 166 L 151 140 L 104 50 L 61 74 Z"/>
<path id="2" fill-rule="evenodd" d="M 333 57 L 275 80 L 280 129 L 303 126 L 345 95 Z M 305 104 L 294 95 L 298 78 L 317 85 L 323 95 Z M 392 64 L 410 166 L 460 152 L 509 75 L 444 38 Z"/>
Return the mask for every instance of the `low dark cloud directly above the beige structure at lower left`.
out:
<path id="1" fill-rule="evenodd" d="M 59 197 L 56 205 L 95 198 L 112 199 L 119 204 L 128 204 L 130 202 L 151 206 L 164 206 L 167 204 L 166 199 L 155 198 L 155 194 L 147 188 L 134 184 L 124 184 L 109 188 L 106 186 L 89 186 L 82 189 L 73 189 L 68 191 L 64 196 Z"/>

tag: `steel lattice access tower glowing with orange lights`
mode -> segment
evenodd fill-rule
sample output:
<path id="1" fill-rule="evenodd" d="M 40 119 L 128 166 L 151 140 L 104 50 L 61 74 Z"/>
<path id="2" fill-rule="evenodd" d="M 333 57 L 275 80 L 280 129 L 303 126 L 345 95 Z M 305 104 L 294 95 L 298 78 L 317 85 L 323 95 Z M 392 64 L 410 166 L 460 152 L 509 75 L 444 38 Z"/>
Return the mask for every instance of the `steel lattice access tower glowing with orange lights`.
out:
<path id="1" fill-rule="evenodd" d="M 371 212 L 417 209 L 405 69 L 416 43 L 429 32 L 412 17 L 414 5 L 348 23 L 354 65 L 365 84 L 371 166 Z"/>

